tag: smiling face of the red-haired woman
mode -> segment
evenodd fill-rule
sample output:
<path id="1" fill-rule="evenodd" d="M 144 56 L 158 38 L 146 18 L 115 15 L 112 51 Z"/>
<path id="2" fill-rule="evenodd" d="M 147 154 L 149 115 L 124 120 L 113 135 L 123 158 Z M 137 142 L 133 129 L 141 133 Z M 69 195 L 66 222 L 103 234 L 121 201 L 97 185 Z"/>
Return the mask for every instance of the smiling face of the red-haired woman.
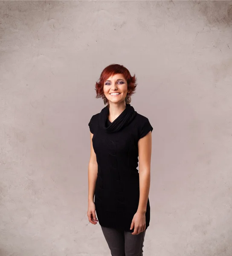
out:
<path id="1" fill-rule="evenodd" d="M 119 103 L 125 101 L 128 92 L 127 81 L 122 74 L 116 74 L 110 76 L 106 81 L 104 81 L 104 95 L 108 99 L 109 103 Z M 119 93 L 113 95 L 112 93 Z"/>

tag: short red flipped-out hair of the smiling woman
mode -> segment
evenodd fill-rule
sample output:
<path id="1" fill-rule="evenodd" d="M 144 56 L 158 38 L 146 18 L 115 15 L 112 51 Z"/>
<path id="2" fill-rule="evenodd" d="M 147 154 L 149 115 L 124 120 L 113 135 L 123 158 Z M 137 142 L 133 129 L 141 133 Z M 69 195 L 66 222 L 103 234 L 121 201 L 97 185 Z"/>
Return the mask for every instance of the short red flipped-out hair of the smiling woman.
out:
<path id="1" fill-rule="evenodd" d="M 96 86 L 95 86 L 95 90 L 97 93 L 96 98 L 102 98 L 104 96 L 104 91 L 103 91 L 103 87 L 104 87 L 104 81 L 106 81 L 110 76 L 114 76 L 116 74 L 122 74 L 124 76 L 124 79 L 127 81 L 128 84 L 128 95 L 132 95 L 135 93 L 135 89 L 136 89 L 136 77 L 131 76 L 129 70 L 124 67 L 123 65 L 119 65 L 119 64 L 111 64 L 107 67 L 104 68 L 104 70 L 101 73 L 101 76 L 99 78 L 99 82 L 96 82 Z M 106 99 L 106 101 L 108 102 L 108 100 Z"/>

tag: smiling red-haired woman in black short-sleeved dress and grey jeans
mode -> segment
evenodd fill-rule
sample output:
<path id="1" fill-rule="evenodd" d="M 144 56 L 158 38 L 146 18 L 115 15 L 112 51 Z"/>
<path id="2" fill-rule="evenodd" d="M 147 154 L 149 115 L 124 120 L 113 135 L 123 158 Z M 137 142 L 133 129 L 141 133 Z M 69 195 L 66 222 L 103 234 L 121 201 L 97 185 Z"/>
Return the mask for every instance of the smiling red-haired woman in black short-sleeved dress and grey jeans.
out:
<path id="1" fill-rule="evenodd" d="M 106 67 L 96 83 L 96 98 L 102 97 L 107 105 L 88 124 L 87 216 L 92 224 L 99 221 L 112 256 L 142 256 L 150 222 L 153 128 L 148 118 L 130 105 L 135 82 L 135 76 L 124 66 Z"/>

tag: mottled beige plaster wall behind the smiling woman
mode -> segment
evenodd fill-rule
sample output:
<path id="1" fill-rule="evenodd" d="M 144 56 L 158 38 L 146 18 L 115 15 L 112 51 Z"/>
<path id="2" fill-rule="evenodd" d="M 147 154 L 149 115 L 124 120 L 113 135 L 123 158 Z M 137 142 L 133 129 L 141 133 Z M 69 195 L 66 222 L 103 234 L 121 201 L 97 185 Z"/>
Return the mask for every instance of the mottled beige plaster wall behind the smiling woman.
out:
<path id="1" fill-rule="evenodd" d="M 154 130 L 144 256 L 232 255 L 232 2 L 0 2 L 0 256 L 108 256 L 87 219 L 109 64 Z"/>

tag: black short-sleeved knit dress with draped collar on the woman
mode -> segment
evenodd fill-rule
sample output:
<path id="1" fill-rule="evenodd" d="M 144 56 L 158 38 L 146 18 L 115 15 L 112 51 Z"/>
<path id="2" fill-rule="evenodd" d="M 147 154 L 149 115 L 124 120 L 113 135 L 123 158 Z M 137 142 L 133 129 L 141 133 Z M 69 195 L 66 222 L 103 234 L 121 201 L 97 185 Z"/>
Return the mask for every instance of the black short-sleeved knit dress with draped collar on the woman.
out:
<path id="1" fill-rule="evenodd" d="M 134 111 L 130 104 L 112 123 L 108 115 L 106 106 L 88 124 L 98 163 L 96 214 L 103 227 L 133 232 L 131 222 L 139 205 L 138 140 L 153 128 L 148 118 Z M 145 217 L 147 229 L 149 198 Z"/>

